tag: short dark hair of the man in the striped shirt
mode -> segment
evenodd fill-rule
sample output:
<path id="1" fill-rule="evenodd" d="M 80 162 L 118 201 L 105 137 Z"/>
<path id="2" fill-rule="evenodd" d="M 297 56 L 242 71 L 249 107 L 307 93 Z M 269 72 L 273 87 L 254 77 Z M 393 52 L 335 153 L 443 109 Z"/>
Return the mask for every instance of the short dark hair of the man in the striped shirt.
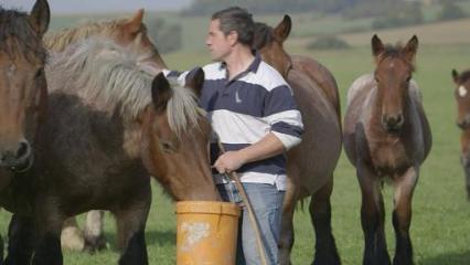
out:
<path id="1" fill-rule="evenodd" d="M 246 9 L 232 7 L 212 14 L 212 20 L 218 20 L 221 31 L 228 35 L 231 31 L 238 34 L 238 42 L 252 46 L 255 36 L 255 22 Z"/>

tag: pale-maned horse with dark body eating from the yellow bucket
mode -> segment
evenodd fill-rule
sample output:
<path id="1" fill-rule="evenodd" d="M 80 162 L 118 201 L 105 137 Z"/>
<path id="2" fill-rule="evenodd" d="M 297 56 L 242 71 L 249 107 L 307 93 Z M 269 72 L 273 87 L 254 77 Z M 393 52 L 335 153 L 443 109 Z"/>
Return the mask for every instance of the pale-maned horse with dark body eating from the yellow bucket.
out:
<path id="1" fill-rule="evenodd" d="M 1 198 L 15 213 L 17 253 L 7 262 L 26 264 L 34 253 L 32 264 L 62 264 L 64 220 L 102 209 L 117 219 L 119 264 L 148 264 L 149 176 L 177 199 L 220 200 L 209 167 L 211 128 L 196 102 L 202 70 L 185 88 L 162 73 L 153 77 L 146 61 L 102 39 L 51 56 L 49 118 L 36 147 L 43 159 Z"/>

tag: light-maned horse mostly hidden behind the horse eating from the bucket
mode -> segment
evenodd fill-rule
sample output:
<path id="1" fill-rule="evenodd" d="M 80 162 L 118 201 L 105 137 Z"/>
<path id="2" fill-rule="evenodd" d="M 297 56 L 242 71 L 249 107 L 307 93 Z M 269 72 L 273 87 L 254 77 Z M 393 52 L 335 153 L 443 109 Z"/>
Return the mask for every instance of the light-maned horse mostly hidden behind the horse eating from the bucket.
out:
<path id="1" fill-rule="evenodd" d="M 133 52 L 147 57 L 147 63 L 157 68 L 165 68 L 165 63 L 157 47 L 151 42 L 143 21 L 143 9 L 130 18 L 111 19 L 99 22 L 88 22 L 78 26 L 63 29 L 58 32 L 49 32 L 44 36 L 44 43 L 51 52 L 62 52 L 68 45 L 92 36 L 102 36 L 129 47 Z M 142 62 L 143 63 L 143 62 Z M 106 239 L 103 234 L 103 211 L 87 213 L 84 232 L 79 230 L 75 218 L 65 221 L 62 233 L 64 248 L 95 252 L 106 247 Z"/>

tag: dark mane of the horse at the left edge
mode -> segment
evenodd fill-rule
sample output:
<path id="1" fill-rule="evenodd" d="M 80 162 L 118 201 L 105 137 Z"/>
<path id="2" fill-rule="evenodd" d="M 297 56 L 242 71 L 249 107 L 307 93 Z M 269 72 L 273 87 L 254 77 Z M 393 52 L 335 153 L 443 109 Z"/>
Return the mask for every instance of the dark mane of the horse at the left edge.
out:
<path id="1" fill-rule="evenodd" d="M 0 7 L 0 51 L 9 56 L 21 53 L 30 62 L 36 57 L 44 61 L 47 55 L 41 38 L 28 21 L 28 14 L 17 10 L 6 10 L 2 7 Z"/>

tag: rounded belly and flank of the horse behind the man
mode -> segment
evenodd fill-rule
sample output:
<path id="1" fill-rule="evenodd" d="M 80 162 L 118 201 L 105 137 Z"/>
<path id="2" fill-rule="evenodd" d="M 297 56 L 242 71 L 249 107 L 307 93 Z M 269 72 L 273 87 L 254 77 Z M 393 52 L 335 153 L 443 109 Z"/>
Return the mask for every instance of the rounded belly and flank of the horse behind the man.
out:
<path id="1" fill-rule="evenodd" d="M 288 176 L 305 193 L 320 189 L 333 174 L 341 153 L 341 126 L 324 93 L 305 75 L 291 71 L 288 82 L 302 115 L 302 141 L 288 153 Z M 302 83 L 303 82 L 303 83 Z"/>

